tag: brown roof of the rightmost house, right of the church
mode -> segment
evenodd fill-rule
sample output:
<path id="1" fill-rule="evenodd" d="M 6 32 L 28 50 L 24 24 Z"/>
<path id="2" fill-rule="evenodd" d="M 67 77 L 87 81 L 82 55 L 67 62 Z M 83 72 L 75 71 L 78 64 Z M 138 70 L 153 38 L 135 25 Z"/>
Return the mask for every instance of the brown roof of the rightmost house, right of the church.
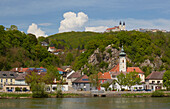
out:
<path id="1" fill-rule="evenodd" d="M 162 80 L 164 73 L 165 71 L 153 71 L 146 77 L 146 79 Z"/>

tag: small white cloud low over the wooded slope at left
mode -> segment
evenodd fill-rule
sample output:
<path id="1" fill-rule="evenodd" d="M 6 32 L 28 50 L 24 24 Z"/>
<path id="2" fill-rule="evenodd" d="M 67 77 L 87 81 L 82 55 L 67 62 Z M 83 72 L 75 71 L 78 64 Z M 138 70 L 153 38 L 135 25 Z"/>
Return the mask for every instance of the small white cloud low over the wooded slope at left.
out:
<path id="1" fill-rule="evenodd" d="M 40 28 L 38 28 L 37 24 L 32 23 L 32 25 L 30 25 L 28 27 L 27 33 L 32 33 L 34 35 L 36 35 L 36 37 L 38 38 L 39 36 L 44 36 L 47 37 L 47 35 L 45 34 L 44 31 L 42 31 Z"/>

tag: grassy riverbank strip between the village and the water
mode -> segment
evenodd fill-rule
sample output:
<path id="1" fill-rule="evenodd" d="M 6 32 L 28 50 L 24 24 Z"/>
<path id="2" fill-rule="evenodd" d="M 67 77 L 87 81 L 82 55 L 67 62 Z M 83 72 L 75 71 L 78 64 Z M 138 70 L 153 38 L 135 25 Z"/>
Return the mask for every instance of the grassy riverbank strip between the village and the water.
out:
<path id="1" fill-rule="evenodd" d="M 57 98 L 57 93 L 48 93 L 48 98 Z M 153 97 L 152 92 L 104 92 L 104 93 L 91 93 L 88 91 L 76 92 L 63 92 L 58 98 L 87 98 L 87 97 Z M 158 97 L 170 97 L 170 91 L 161 91 Z M 0 93 L 0 99 L 20 99 L 32 98 L 32 93 Z"/>

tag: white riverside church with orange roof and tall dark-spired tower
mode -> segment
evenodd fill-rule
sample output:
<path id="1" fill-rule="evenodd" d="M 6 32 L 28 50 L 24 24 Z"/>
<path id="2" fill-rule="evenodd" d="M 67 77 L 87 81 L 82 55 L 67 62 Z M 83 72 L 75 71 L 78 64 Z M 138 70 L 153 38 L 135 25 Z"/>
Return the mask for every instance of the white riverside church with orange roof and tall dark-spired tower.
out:
<path id="1" fill-rule="evenodd" d="M 141 83 L 145 82 L 145 75 L 144 72 L 139 67 L 127 67 L 126 66 L 126 53 L 124 52 L 123 46 L 121 49 L 121 52 L 119 53 L 119 64 L 117 64 L 114 68 L 112 68 L 109 73 L 111 74 L 112 79 L 117 80 L 117 75 L 119 75 L 121 72 L 126 75 L 129 72 L 137 72 L 138 76 L 141 79 Z M 127 86 L 123 87 L 124 89 L 128 89 Z M 134 89 L 144 89 L 143 85 L 135 85 L 132 86 Z M 120 86 L 117 84 L 116 89 L 120 89 Z"/>

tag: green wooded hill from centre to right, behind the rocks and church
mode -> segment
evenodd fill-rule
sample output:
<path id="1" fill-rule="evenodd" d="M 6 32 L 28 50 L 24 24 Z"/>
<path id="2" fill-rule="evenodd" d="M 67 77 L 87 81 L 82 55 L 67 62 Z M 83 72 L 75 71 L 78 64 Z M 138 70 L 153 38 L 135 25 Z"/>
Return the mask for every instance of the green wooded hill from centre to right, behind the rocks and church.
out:
<path id="1" fill-rule="evenodd" d="M 73 62 L 75 70 L 80 70 L 82 66 L 89 64 L 88 59 L 94 50 L 98 48 L 103 53 L 105 47 L 110 44 L 112 44 L 112 48 L 117 50 L 122 44 L 124 45 L 125 52 L 131 60 L 129 66 L 141 66 L 145 72 L 170 68 L 170 33 L 142 33 L 137 31 L 114 33 L 68 32 L 49 36 L 48 39 L 53 42 L 62 40 L 67 44 L 68 49 L 69 46 L 79 49 L 82 45 L 84 46 L 86 52 Z"/>

